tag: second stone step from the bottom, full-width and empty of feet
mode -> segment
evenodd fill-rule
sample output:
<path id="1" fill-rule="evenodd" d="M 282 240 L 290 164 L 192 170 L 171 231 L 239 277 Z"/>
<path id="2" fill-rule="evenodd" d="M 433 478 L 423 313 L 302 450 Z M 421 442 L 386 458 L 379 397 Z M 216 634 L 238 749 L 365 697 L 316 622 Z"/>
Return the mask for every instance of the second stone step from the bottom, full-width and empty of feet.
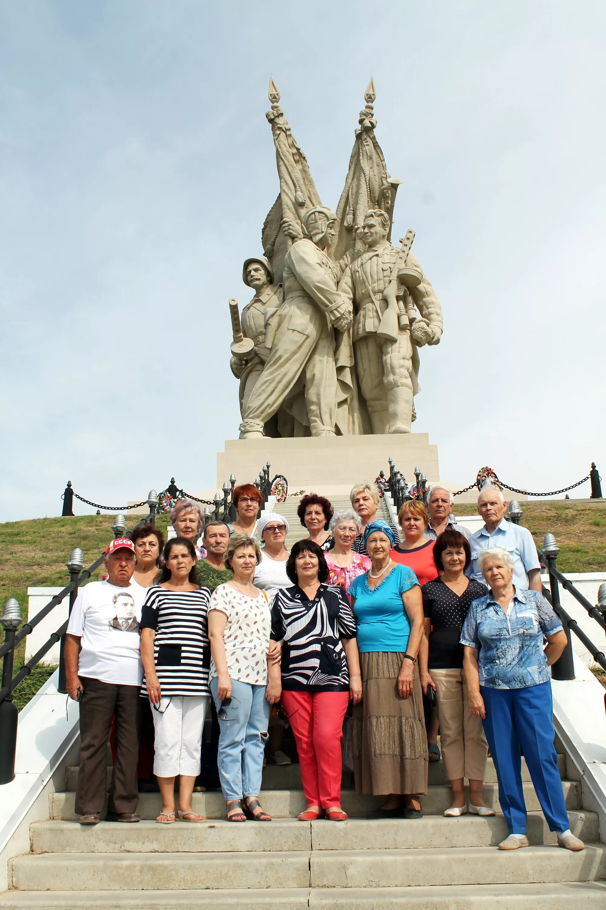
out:
<path id="1" fill-rule="evenodd" d="M 9 862 L 23 891 L 192 888 L 373 888 L 591 882 L 606 876 L 606 845 L 314 850 L 293 853 L 28 854 Z"/>

